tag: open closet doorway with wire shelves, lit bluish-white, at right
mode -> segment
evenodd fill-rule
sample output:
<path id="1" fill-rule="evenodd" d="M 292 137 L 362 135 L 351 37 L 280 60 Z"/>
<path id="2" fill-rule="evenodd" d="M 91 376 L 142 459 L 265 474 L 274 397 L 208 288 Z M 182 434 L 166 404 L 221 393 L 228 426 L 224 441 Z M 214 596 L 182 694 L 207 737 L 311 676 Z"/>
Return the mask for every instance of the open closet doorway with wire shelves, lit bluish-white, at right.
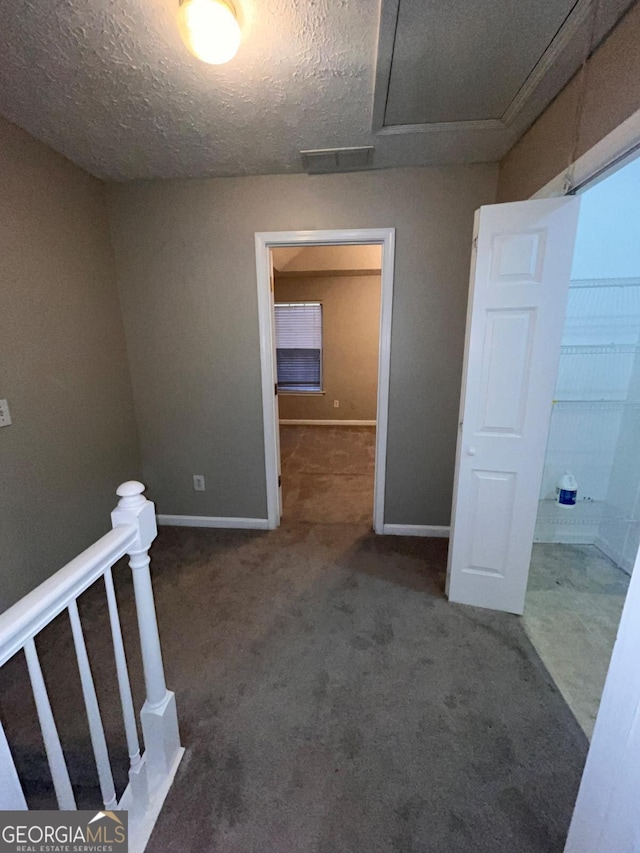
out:
<path id="1" fill-rule="evenodd" d="M 640 544 L 639 198 L 640 159 L 582 193 L 524 609 L 588 737 Z"/>

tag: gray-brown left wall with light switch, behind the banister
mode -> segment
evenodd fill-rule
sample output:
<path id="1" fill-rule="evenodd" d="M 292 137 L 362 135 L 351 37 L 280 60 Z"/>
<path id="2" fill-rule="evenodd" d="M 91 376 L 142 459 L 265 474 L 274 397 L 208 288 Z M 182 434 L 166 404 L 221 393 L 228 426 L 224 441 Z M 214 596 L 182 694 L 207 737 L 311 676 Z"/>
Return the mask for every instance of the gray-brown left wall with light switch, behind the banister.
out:
<path id="1" fill-rule="evenodd" d="M 140 476 L 104 188 L 0 119 L 0 609 L 110 528 Z"/>

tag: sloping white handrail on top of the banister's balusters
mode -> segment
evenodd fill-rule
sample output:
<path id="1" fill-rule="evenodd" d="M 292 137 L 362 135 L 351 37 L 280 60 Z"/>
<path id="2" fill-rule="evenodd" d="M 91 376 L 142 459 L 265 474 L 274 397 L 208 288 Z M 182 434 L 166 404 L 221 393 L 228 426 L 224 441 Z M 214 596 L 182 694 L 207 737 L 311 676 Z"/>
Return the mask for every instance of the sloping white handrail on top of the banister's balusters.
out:
<path id="1" fill-rule="evenodd" d="M 0 614 L 0 666 L 123 557 L 137 535 L 131 524 L 115 527 Z"/>

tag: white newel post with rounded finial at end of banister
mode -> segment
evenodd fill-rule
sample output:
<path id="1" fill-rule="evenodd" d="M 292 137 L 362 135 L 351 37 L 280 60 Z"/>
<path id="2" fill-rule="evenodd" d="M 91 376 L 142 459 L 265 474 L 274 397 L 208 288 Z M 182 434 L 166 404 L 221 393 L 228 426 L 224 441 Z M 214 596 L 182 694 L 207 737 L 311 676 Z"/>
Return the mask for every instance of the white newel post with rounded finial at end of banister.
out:
<path id="1" fill-rule="evenodd" d="M 158 533 L 155 506 L 144 496 L 144 486 L 135 480 L 123 483 L 116 494 L 118 506 L 111 513 L 113 527 L 134 525 L 138 536 L 129 550 L 133 588 L 138 614 L 138 630 L 146 687 L 146 701 L 140 712 L 145 744 L 145 760 L 151 793 L 173 772 L 181 753 L 178 716 L 174 694 L 167 690 L 160 649 L 160 636 L 149 572 L 149 548 Z"/>

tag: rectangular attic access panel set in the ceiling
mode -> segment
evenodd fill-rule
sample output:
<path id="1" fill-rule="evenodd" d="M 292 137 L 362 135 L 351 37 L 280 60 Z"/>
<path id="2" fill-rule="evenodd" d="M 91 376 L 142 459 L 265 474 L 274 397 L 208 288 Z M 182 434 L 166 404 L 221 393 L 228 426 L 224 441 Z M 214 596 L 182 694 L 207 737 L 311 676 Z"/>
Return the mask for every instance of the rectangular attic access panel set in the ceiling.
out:
<path id="1" fill-rule="evenodd" d="M 383 124 L 500 119 L 576 0 L 397 0 Z"/>

